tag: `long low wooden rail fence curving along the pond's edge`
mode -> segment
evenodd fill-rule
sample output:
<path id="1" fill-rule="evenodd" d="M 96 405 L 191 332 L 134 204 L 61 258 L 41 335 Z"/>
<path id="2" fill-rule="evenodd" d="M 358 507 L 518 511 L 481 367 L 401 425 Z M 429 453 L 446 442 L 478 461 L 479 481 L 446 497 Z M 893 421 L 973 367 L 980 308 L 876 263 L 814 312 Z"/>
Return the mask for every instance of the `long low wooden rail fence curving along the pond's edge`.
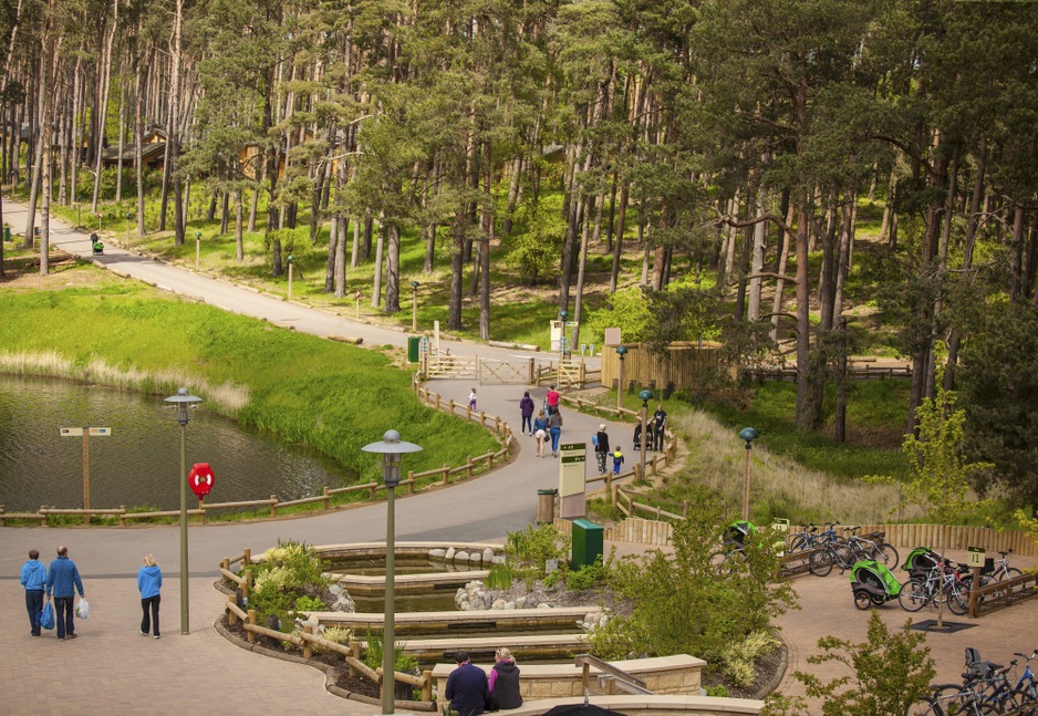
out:
<path id="1" fill-rule="evenodd" d="M 399 481 L 399 488 L 406 488 L 408 494 L 413 494 L 418 486 L 418 481 L 428 477 L 437 478 L 435 484 L 437 485 L 449 485 L 451 476 L 464 475 L 465 478 L 470 478 L 475 475 L 477 469 L 482 469 L 486 465 L 486 469 L 494 469 L 494 461 L 501 460 L 508 456 L 509 447 L 511 446 L 515 436 L 512 435 L 511 428 L 508 426 L 508 423 L 502 421 L 496 415 L 487 415 L 485 411 L 473 411 L 468 405 L 460 403 L 455 403 L 454 401 L 445 401 L 440 397 L 438 393 L 433 393 L 424 387 L 415 386 L 415 391 L 418 397 L 424 401 L 427 405 L 435 407 L 437 411 L 444 411 L 457 417 L 463 417 L 467 421 L 473 421 L 479 423 L 481 426 L 494 430 L 501 440 L 501 448 L 499 450 L 487 450 L 482 455 L 469 455 L 463 465 L 447 465 L 443 467 L 437 467 L 432 470 L 425 470 L 422 473 L 415 473 L 411 470 L 407 473 L 407 479 Z M 654 467 L 655 469 L 655 467 Z M 205 523 L 206 517 L 209 512 L 216 510 L 255 510 L 255 509 L 266 509 L 268 511 L 268 517 L 276 518 L 278 517 L 278 510 L 283 510 L 286 508 L 295 507 L 298 505 L 315 505 L 321 504 L 321 509 L 329 511 L 333 508 L 331 500 L 336 495 L 347 495 L 351 492 L 366 492 L 367 501 L 375 501 L 378 499 L 378 492 L 385 491 L 386 487 L 383 482 L 364 482 L 363 485 L 351 485 L 349 487 L 328 487 L 320 495 L 313 497 L 303 497 L 294 500 L 279 500 L 277 495 L 271 495 L 267 499 L 260 500 L 238 500 L 232 502 L 199 502 L 198 508 L 189 509 L 187 511 L 188 519 L 198 518 L 201 523 Z M 152 520 L 152 519 L 169 519 L 178 518 L 180 516 L 179 510 L 162 510 L 154 512 L 131 512 L 126 510 L 125 506 L 121 506 L 115 509 L 108 508 L 98 508 L 98 509 L 65 509 L 65 508 L 53 508 L 48 506 L 42 506 L 37 512 L 8 512 L 4 509 L 3 505 L 0 505 L 0 527 L 7 527 L 9 521 L 12 520 L 33 520 L 39 521 L 41 527 L 48 526 L 48 517 L 50 516 L 61 516 L 61 515 L 76 515 L 82 516 L 84 521 L 89 521 L 91 517 L 106 516 L 118 518 L 120 527 L 125 527 L 129 522 L 142 521 L 142 520 Z"/>

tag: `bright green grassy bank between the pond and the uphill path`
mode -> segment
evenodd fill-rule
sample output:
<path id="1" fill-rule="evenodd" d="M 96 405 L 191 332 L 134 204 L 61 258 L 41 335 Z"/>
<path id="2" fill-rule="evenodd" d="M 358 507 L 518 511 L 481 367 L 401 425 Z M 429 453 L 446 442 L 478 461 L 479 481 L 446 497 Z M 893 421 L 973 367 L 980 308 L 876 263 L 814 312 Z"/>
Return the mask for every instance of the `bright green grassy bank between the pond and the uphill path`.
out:
<path id="1" fill-rule="evenodd" d="M 3 370 L 169 395 L 185 385 L 217 409 L 305 443 L 359 474 L 390 428 L 422 445 L 416 471 L 497 449 L 487 430 L 426 408 L 385 352 L 271 326 L 77 266 L 0 294 Z"/>

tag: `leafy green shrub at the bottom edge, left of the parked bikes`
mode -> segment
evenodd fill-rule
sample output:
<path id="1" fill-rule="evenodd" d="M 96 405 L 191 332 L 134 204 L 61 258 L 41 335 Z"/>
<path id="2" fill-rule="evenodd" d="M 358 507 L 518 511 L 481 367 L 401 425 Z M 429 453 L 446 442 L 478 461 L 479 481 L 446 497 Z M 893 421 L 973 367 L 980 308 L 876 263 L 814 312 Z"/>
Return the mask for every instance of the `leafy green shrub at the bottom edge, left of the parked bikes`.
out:
<path id="1" fill-rule="evenodd" d="M 911 626 L 910 620 L 891 634 L 879 612 L 872 610 L 864 643 L 824 636 L 818 641 L 824 653 L 808 657 L 811 664 L 843 664 L 853 676 L 829 682 L 803 672 L 795 676 L 805 684 L 808 696 L 824 701 L 824 716 L 902 716 L 930 691 L 936 673 L 930 647 L 923 646 L 926 635 Z M 765 714 L 799 716 L 802 708 L 799 699 L 769 699 Z"/>

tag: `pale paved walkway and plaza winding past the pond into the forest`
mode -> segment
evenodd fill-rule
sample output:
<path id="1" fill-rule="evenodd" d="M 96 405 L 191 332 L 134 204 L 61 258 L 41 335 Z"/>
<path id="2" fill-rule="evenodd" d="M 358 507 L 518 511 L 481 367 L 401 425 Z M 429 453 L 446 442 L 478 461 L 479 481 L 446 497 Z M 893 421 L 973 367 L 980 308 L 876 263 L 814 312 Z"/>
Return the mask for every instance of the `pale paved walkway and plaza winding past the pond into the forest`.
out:
<path id="1" fill-rule="evenodd" d="M 18 208 L 6 204 L 6 218 L 14 226 L 24 220 Z M 55 246 L 87 256 L 87 238 L 55 226 Z M 319 335 L 346 334 L 366 343 L 402 345 L 404 334 L 355 324 L 309 308 L 287 303 L 189 271 L 142 259 L 114 247 L 101 259 L 120 272 L 147 280 L 179 293 L 205 298 L 215 305 Z M 451 344 L 456 354 L 513 354 L 486 346 Z M 465 399 L 469 384 L 440 381 L 430 384 L 448 397 Z M 480 407 L 518 426 L 521 386 L 482 386 Z M 543 391 L 531 391 L 537 398 Z M 565 411 L 564 437 L 590 440 L 599 421 Z M 610 433 L 630 448 L 631 426 L 610 423 Z M 405 433 L 406 439 L 406 429 Z M 376 439 L 373 436 L 372 439 Z M 558 463 L 532 457 L 532 439 L 520 437 L 518 458 L 489 475 L 397 501 L 398 539 L 500 539 L 522 528 L 536 513 L 536 491 L 558 484 Z M 633 455 L 633 450 L 627 450 Z M 406 459 L 406 458 L 405 458 Z M 589 464 L 593 470 L 593 460 Z M 211 624 L 221 612 L 222 595 L 212 590 L 220 558 L 239 553 L 243 547 L 266 549 L 278 539 L 298 539 L 314 544 L 381 540 L 385 530 L 382 505 L 360 507 L 330 515 L 262 522 L 193 526 L 190 532 L 191 631 L 179 634 L 178 540 L 175 527 L 132 528 L 7 528 L 0 529 L 0 714 L 251 714 L 257 707 L 279 714 L 373 714 L 377 707 L 345 702 L 328 695 L 323 675 L 309 667 L 253 655 L 216 634 Z M 81 639 L 58 642 L 53 632 L 42 639 L 29 636 L 22 590 L 17 574 L 25 553 L 37 548 L 50 560 L 59 543 L 70 547 L 84 577 L 91 601 L 91 619 L 79 627 Z M 630 546 L 625 546 L 630 551 Z M 164 568 L 163 631 L 159 641 L 137 633 L 139 601 L 134 575 L 145 552 L 154 552 Z M 1023 562 L 1024 560 L 1018 560 Z M 1038 560 L 1030 560 L 1038 563 Z M 779 620 L 791 647 L 791 668 L 782 689 L 801 693 L 792 682 L 793 668 L 817 671 L 807 664 L 818 637 L 834 634 L 863 641 L 868 614 L 851 602 L 845 578 L 824 580 L 807 577 L 797 582 L 801 611 Z M 896 605 L 882 610 L 891 626 L 906 614 Z M 924 619 L 925 614 L 917 614 Z M 962 650 L 970 645 L 996 661 L 1014 651 L 1038 646 L 1034 624 L 1038 602 L 985 618 L 978 625 L 955 635 L 931 635 L 927 640 L 938 662 L 937 681 L 954 681 L 961 671 Z M 967 621 L 955 618 L 955 621 Z M 828 670 L 828 674 L 834 674 Z"/>

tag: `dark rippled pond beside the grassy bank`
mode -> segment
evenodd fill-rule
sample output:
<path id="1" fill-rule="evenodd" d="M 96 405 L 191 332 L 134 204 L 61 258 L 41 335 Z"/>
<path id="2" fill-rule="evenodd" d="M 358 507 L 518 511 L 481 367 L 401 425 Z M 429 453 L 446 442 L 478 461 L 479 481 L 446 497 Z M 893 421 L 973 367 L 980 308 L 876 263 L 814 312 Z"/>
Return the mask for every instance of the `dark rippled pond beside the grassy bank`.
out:
<path id="1" fill-rule="evenodd" d="M 89 439 L 92 508 L 180 505 L 180 426 L 162 396 L 0 375 L 0 505 L 9 512 L 83 506 L 83 438 L 62 427 L 107 427 Z M 187 426 L 187 466 L 209 463 L 208 502 L 319 495 L 355 475 L 303 445 L 250 429 L 200 403 Z M 194 494 L 188 506 L 195 506 Z"/>

